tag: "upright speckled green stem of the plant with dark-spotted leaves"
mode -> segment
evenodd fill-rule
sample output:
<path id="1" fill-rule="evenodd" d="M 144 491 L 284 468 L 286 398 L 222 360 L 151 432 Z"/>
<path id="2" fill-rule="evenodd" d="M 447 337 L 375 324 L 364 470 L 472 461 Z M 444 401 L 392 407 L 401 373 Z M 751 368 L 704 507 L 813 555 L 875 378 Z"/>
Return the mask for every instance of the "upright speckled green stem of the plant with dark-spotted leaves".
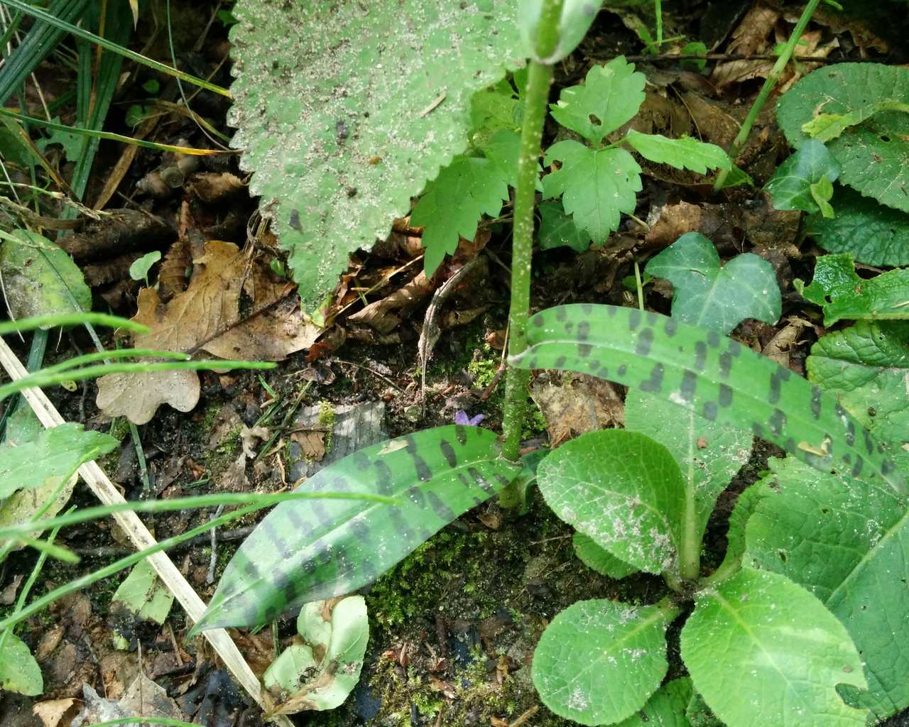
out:
<path id="1" fill-rule="evenodd" d="M 559 18 L 563 0 L 544 0 L 543 12 L 537 25 L 536 50 L 538 58 L 553 54 L 559 42 Z M 521 152 L 517 162 L 517 184 L 514 187 L 514 236 L 512 240 L 512 296 L 508 314 L 508 354 L 516 356 L 527 348 L 527 320 L 530 317 L 530 269 L 534 251 L 534 205 L 536 204 L 536 174 L 543 142 L 543 123 L 549 86 L 553 82 L 552 65 L 530 62 L 527 86 L 524 89 L 524 123 L 521 127 Z M 527 408 L 527 385 L 530 372 L 508 367 L 505 374 L 505 401 L 502 419 L 506 459 L 517 462 L 521 454 L 521 430 Z M 522 504 L 517 483 L 499 494 L 504 508 L 515 509 Z"/>

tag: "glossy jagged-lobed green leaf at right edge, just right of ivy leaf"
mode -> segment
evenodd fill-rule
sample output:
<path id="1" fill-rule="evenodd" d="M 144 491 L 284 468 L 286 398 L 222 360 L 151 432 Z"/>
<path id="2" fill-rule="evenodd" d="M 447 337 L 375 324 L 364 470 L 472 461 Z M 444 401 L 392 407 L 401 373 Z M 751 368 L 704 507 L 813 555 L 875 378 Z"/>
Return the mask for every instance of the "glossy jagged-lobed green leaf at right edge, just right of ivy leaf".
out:
<path id="1" fill-rule="evenodd" d="M 824 255 L 817 258 L 810 285 L 798 279 L 793 285 L 806 301 L 824 309 L 825 326 L 844 318 L 909 318 L 909 268 L 865 279 L 855 273 L 851 254 Z"/>

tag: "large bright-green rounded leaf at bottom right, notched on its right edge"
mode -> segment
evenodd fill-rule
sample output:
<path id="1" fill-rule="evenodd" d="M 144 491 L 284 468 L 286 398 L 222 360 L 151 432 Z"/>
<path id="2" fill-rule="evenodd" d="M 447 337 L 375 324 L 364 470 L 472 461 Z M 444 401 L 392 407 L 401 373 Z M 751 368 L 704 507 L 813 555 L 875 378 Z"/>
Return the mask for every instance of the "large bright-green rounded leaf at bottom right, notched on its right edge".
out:
<path id="1" fill-rule="evenodd" d="M 867 687 L 849 634 L 811 593 L 743 568 L 698 593 L 682 629 L 694 688 L 729 727 L 862 727 L 838 684 Z M 755 722 L 756 721 L 756 722 Z"/>

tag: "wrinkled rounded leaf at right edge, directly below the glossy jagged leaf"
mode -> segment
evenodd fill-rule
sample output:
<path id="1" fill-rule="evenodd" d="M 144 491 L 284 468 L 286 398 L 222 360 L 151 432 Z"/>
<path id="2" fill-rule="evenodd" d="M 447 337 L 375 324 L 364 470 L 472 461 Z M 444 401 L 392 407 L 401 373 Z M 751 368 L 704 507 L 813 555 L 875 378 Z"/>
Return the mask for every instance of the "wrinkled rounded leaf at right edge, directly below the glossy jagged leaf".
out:
<path id="1" fill-rule="evenodd" d="M 909 324 L 858 321 L 825 334 L 805 371 L 879 439 L 909 442 Z"/>

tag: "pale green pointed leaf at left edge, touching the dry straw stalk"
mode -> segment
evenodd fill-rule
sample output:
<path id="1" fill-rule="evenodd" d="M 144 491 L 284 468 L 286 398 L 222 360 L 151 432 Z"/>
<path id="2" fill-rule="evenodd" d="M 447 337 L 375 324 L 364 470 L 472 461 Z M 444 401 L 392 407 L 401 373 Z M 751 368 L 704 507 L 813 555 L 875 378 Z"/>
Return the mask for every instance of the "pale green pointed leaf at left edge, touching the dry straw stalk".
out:
<path id="1" fill-rule="evenodd" d="M 85 432 L 82 424 L 64 423 L 38 433 L 18 446 L 0 446 L 0 498 L 16 490 L 57 485 L 90 462 L 119 446 L 114 437 Z"/>

